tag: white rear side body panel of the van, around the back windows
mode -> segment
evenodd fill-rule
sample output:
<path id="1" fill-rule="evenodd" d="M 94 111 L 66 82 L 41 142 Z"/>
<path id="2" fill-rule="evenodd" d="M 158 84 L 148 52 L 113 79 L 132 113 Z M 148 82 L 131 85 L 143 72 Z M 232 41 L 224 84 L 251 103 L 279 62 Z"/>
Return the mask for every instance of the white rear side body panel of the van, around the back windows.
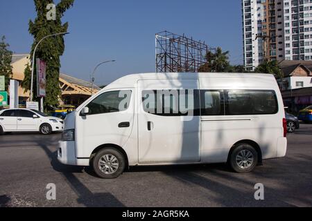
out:
<path id="1" fill-rule="evenodd" d="M 241 140 L 256 142 L 262 158 L 277 157 L 277 140 L 283 137 L 284 105 L 272 75 L 249 77 L 200 77 L 200 90 L 274 90 L 278 110 L 273 115 L 201 116 L 202 162 L 226 162 L 230 148 Z M 224 96 L 225 97 L 225 96 Z"/>

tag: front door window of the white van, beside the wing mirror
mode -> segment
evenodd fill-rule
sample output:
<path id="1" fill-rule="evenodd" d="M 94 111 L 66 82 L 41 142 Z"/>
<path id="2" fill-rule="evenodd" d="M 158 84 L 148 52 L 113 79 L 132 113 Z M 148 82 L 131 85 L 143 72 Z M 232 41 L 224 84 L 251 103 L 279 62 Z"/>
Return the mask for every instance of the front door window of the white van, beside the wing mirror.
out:
<path id="1" fill-rule="evenodd" d="M 92 102 L 87 104 L 89 115 L 127 110 L 130 104 L 131 93 L 131 90 L 114 90 L 98 95 Z"/>

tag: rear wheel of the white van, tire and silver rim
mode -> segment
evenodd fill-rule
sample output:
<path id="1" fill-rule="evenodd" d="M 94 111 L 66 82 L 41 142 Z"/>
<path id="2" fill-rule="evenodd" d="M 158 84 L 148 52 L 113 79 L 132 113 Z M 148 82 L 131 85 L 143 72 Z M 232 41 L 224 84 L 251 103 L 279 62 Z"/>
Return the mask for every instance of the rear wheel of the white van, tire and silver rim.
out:
<path id="1" fill-rule="evenodd" d="M 257 163 L 258 153 L 250 144 L 239 144 L 229 156 L 229 164 L 237 173 L 248 173 Z"/>

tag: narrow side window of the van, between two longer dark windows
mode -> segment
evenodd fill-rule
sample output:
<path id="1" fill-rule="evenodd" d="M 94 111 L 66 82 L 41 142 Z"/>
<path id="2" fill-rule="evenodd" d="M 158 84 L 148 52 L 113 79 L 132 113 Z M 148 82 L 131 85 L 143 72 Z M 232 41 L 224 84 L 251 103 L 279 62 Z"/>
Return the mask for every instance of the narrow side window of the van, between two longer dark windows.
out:
<path id="1" fill-rule="evenodd" d="M 224 115 L 222 90 L 200 90 L 201 115 Z"/>

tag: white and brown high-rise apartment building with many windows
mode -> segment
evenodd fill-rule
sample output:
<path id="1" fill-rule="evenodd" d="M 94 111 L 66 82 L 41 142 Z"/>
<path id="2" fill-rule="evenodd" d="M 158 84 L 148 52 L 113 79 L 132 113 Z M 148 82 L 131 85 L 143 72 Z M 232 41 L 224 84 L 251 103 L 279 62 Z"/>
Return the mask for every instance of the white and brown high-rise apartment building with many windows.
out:
<path id="1" fill-rule="evenodd" d="M 242 0 L 247 70 L 263 59 L 312 60 L 312 0 Z"/>

